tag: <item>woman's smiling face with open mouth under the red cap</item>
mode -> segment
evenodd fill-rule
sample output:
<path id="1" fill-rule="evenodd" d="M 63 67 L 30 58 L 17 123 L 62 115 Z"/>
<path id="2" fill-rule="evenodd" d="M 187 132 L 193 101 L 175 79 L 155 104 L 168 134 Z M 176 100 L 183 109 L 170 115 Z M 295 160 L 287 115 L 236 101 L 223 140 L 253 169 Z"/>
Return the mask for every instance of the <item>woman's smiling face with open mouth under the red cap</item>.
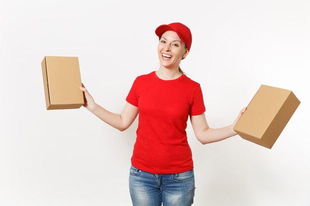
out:
<path id="1" fill-rule="evenodd" d="M 173 31 L 162 34 L 157 51 L 160 65 L 165 68 L 179 68 L 181 59 L 188 54 L 184 42 Z"/>

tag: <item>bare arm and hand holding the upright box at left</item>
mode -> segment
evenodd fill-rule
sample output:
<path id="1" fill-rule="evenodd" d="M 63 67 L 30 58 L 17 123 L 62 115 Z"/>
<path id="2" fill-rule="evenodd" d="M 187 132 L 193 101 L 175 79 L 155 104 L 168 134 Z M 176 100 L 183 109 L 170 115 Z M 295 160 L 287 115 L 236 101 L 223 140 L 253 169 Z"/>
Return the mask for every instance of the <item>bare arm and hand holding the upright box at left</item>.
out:
<path id="1" fill-rule="evenodd" d="M 138 116 L 138 107 L 133 106 L 128 102 L 126 102 L 126 105 L 121 114 L 115 114 L 107 111 L 94 101 L 94 98 L 84 87 L 84 84 L 82 85 L 83 87 L 81 86 L 80 89 L 84 92 L 85 104 L 83 106 L 106 124 L 109 124 L 120 131 L 124 131 L 134 122 Z"/>

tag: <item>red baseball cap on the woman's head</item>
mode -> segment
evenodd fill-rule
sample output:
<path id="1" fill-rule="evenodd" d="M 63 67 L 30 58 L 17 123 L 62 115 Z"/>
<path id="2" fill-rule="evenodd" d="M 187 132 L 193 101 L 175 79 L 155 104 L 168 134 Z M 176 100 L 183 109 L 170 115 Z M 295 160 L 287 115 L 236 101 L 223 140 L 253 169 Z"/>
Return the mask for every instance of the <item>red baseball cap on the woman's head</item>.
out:
<path id="1" fill-rule="evenodd" d="M 155 30 L 155 34 L 161 38 L 161 35 L 166 31 L 174 31 L 177 33 L 179 38 L 186 44 L 187 49 L 191 49 L 192 45 L 192 33 L 191 30 L 185 26 L 184 24 L 181 24 L 179 22 L 171 23 L 171 24 L 163 24 L 157 27 Z"/>

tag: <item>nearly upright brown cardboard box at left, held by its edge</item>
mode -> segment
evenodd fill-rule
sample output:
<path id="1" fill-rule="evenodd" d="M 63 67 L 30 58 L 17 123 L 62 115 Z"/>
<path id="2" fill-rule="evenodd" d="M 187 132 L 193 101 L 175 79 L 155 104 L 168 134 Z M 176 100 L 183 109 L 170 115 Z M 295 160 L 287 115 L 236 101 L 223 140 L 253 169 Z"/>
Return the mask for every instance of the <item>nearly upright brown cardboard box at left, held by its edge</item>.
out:
<path id="1" fill-rule="evenodd" d="M 42 74 L 47 110 L 78 109 L 84 105 L 78 57 L 46 56 Z"/>

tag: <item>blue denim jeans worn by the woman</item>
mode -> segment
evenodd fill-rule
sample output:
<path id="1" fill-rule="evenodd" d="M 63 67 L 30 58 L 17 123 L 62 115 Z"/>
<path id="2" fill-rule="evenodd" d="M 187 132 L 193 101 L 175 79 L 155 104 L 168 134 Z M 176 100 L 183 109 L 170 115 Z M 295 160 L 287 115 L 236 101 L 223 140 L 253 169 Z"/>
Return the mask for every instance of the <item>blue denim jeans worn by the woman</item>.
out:
<path id="1" fill-rule="evenodd" d="M 133 206 L 191 206 L 195 195 L 194 169 L 153 174 L 131 165 L 129 191 Z"/>

